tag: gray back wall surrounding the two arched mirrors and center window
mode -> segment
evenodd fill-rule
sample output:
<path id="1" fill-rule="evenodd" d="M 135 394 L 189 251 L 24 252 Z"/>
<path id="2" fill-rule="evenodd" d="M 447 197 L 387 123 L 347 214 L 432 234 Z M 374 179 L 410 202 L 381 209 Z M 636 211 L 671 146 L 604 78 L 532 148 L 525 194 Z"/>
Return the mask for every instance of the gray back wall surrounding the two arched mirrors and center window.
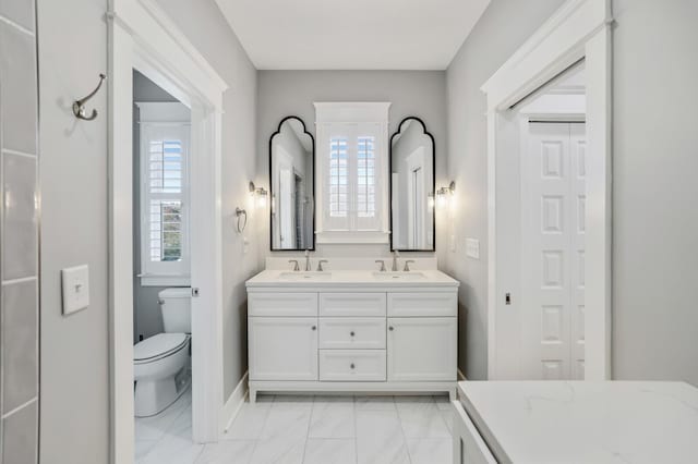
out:
<path id="1" fill-rule="evenodd" d="M 301 118 L 314 136 L 314 101 L 390 101 L 390 134 L 404 118 L 421 118 L 436 139 L 436 185 L 447 184 L 445 77 L 444 71 L 260 71 L 256 154 L 263 184 L 268 185 L 269 136 L 287 115 Z M 260 225 L 261 254 L 269 256 L 268 218 Z M 442 235 L 437 235 L 436 247 L 437 255 L 443 257 L 446 243 Z M 321 245 L 315 255 L 387 256 L 388 253 L 387 245 Z"/>

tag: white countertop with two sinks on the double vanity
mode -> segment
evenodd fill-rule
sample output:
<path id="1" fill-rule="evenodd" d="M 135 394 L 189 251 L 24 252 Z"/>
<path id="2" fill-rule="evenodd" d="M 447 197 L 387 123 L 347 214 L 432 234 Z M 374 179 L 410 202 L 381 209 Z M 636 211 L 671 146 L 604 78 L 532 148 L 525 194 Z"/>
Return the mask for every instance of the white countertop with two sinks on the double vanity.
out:
<path id="1" fill-rule="evenodd" d="M 303 279 L 308 277 L 308 279 Z M 264 270 L 246 281 L 248 288 L 457 288 L 460 283 L 434 269 L 410 272 L 375 272 L 370 270 L 330 270 L 326 272 L 291 272 Z"/>

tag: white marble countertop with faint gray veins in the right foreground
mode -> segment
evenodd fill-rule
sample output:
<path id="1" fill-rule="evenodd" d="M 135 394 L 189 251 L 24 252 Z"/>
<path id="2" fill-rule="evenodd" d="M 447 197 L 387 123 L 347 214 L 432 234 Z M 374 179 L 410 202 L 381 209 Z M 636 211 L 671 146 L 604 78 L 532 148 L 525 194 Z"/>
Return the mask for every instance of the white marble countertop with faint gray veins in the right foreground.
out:
<path id="1" fill-rule="evenodd" d="M 698 389 L 655 381 L 464 381 L 502 463 L 697 463 Z"/>

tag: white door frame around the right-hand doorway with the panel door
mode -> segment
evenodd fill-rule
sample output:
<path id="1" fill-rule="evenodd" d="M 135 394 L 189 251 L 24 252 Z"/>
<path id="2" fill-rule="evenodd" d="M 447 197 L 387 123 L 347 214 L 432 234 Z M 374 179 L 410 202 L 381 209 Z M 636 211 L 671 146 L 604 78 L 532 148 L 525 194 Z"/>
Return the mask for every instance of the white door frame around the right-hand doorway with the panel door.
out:
<path id="1" fill-rule="evenodd" d="M 515 378 L 518 315 L 505 304 L 509 290 L 497 255 L 501 213 L 497 167 L 517 145 L 509 109 L 580 60 L 587 90 L 586 379 L 611 378 L 612 315 L 612 54 L 611 0 L 568 0 L 483 84 L 488 100 L 488 378 Z M 508 150 L 508 151 L 507 151 Z M 500 168 L 501 170 L 502 168 Z M 502 231 L 500 231 L 501 233 Z M 509 264 L 510 266 L 510 264 Z M 508 346 L 508 347 L 506 347 Z M 518 350 L 520 351 L 520 350 Z M 504 355 L 503 355 L 504 354 Z"/>

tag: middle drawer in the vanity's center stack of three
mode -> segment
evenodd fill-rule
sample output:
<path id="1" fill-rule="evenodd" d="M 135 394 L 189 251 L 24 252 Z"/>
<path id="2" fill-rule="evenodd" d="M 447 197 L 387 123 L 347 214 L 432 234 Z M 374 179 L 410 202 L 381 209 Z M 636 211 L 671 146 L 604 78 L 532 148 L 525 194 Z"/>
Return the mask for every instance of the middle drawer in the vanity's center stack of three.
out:
<path id="1" fill-rule="evenodd" d="M 384 350 L 385 319 L 321 317 L 321 350 Z"/>

